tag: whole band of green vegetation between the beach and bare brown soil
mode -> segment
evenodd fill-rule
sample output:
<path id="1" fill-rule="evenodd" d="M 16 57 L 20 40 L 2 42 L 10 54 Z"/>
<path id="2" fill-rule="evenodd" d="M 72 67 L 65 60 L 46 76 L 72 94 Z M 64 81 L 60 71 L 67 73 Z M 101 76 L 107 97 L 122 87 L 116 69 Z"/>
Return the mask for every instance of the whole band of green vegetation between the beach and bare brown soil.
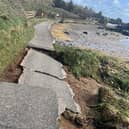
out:
<path id="1" fill-rule="evenodd" d="M 55 45 L 57 58 L 78 79 L 91 77 L 114 88 L 129 92 L 129 68 L 124 62 L 92 50 Z"/>

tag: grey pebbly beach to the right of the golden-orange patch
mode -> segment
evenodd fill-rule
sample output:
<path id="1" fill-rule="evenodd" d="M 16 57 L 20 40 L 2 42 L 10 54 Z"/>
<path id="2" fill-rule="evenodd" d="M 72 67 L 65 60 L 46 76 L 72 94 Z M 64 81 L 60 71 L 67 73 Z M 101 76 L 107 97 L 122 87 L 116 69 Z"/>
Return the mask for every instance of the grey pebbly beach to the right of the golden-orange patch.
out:
<path id="1" fill-rule="evenodd" d="M 64 45 L 93 49 L 129 61 L 129 45 L 123 43 L 126 40 L 129 41 L 129 37 L 117 32 L 98 29 L 98 25 L 68 24 L 68 26 L 71 27 L 67 31 L 72 41 L 63 41 Z"/>

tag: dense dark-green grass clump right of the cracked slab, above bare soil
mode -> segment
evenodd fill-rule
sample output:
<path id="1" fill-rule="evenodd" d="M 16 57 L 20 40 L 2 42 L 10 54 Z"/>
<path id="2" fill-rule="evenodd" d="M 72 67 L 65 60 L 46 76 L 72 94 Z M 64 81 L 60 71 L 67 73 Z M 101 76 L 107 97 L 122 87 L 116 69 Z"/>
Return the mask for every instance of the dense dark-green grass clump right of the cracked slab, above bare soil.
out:
<path id="1" fill-rule="evenodd" d="M 100 62 L 95 53 L 90 50 L 82 51 L 74 47 L 61 47 L 55 45 L 59 60 L 67 65 L 69 70 L 77 77 L 85 76 L 99 80 Z"/>

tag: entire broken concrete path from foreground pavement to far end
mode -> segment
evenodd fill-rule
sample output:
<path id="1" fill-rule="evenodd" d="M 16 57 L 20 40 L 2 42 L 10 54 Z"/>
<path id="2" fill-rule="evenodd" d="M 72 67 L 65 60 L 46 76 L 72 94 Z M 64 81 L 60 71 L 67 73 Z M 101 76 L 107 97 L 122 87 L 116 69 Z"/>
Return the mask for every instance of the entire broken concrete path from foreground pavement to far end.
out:
<path id="1" fill-rule="evenodd" d="M 48 26 L 35 27 L 19 84 L 0 83 L 0 129 L 59 129 L 57 119 L 66 108 L 80 112 L 62 64 L 41 52 L 53 50 Z"/>

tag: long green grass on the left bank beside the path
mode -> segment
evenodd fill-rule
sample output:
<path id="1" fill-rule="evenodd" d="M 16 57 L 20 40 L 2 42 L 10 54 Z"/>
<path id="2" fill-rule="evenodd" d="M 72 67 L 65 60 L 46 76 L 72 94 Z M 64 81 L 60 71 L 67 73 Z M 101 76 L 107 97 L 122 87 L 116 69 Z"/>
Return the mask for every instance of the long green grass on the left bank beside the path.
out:
<path id="1" fill-rule="evenodd" d="M 33 36 L 33 27 L 20 18 L 0 18 L 0 74 L 15 61 Z"/>

